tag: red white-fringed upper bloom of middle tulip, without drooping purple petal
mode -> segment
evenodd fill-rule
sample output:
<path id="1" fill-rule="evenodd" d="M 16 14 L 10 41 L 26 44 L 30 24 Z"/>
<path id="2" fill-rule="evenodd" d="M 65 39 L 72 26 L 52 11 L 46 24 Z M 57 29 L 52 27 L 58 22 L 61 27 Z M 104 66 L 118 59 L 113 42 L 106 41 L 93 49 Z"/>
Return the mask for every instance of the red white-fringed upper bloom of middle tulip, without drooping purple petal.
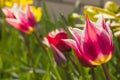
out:
<path id="1" fill-rule="evenodd" d="M 50 46 L 50 44 L 53 44 L 55 47 L 57 47 L 60 51 L 69 51 L 70 47 L 66 45 L 62 39 L 68 39 L 68 35 L 64 30 L 56 30 L 52 31 L 48 34 L 47 37 L 45 37 L 44 43 L 47 46 Z"/>

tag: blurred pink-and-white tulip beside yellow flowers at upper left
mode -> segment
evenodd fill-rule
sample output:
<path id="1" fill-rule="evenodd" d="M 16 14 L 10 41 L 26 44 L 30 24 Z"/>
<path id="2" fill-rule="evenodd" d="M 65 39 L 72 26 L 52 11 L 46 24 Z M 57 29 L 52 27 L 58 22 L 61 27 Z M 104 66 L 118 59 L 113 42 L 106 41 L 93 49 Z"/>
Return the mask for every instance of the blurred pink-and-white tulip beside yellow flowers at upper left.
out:
<path id="1" fill-rule="evenodd" d="M 25 11 L 14 5 L 13 8 L 3 8 L 3 12 L 6 15 L 6 21 L 25 34 L 33 32 L 36 27 L 37 23 L 29 5 L 26 6 Z"/>

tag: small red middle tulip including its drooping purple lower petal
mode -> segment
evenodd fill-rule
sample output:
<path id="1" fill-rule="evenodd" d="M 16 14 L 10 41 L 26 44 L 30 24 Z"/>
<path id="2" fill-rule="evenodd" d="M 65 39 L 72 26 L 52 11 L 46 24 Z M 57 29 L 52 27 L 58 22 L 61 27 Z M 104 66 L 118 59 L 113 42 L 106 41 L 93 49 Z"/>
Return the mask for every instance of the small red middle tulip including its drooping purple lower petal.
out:
<path id="1" fill-rule="evenodd" d="M 43 43 L 53 50 L 54 59 L 57 65 L 61 66 L 66 62 L 64 52 L 69 51 L 70 47 L 66 45 L 62 39 L 68 39 L 67 33 L 62 29 L 61 31 L 52 31 L 44 38 Z"/>

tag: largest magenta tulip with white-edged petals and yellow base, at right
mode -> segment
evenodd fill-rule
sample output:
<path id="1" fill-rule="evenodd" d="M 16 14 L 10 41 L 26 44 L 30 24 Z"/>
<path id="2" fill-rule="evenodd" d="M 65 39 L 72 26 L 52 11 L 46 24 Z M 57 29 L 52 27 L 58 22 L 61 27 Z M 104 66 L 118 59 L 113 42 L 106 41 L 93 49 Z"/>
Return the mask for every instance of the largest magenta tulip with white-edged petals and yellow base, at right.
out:
<path id="1" fill-rule="evenodd" d="M 98 66 L 108 62 L 113 55 L 113 40 L 110 22 L 102 16 L 96 23 L 86 17 L 84 30 L 69 27 L 73 39 L 63 39 L 72 47 L 80 63 L 87 67 Z"/>

